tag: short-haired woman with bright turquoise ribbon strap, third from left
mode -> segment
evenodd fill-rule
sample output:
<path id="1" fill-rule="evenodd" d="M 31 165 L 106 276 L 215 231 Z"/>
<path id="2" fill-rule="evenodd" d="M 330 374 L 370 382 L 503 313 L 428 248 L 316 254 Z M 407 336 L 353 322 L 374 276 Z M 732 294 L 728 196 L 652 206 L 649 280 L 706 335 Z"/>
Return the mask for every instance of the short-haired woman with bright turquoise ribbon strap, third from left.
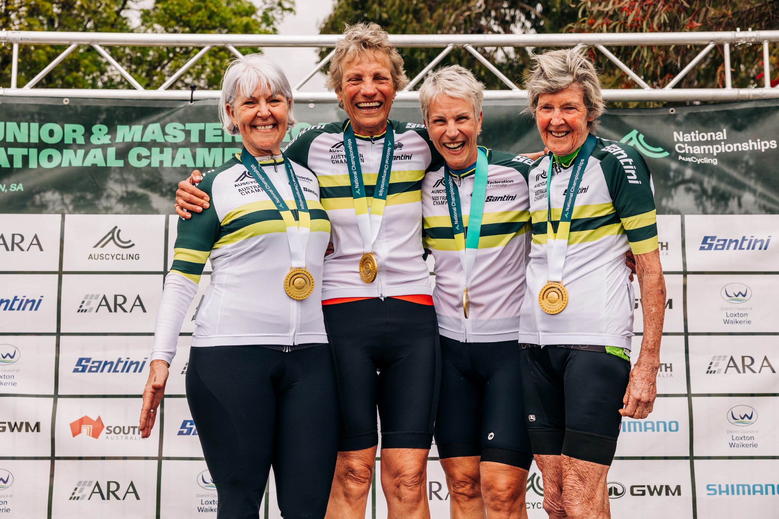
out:
<path id="1" fill-rule="evenodd" d="M 520 519 L 533 461 L 516 343 L 533 161 L 477 146 L 483 89 L 460 65 L 433 72 L 419 89 L 422 119 L 445 161 L 422 181 L 442 358 L 435 444 L 452 517 Z"/>

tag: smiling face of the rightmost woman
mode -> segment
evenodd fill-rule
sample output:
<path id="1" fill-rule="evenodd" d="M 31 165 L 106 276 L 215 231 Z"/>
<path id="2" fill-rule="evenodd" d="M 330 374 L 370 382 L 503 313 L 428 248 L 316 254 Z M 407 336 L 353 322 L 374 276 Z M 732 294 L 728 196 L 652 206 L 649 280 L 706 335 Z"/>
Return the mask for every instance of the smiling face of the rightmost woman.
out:
<path id="1" fill-rule="evenodd" d="M 595 118 L 587 117 L 584 93 L 576 85 L 539 95 L 535 115 L 544 146 L 556 156 L 569 155 L 583 145 L 587 123 Z"/>

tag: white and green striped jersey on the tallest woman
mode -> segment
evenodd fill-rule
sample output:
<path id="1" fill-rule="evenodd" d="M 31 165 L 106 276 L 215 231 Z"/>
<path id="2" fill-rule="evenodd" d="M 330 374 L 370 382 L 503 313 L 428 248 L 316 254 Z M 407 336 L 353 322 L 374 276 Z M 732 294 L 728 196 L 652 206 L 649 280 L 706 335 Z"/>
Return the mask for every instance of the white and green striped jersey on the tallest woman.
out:
<path id="1" fill-rule="evenodd" d="M 429 270 L 422 259 L 421 184 L 425 171 L 440 161 L 421 124 L 388 121 L 394 131 L 390 189 L 379 235 L 372 247 L 379 272 L 374 282 L 360 279 L 364 245 L 354 214 L 354 199 L 344 154 L 343 122 L 311 126 L 284 153 L 319 179 L 322 205 L 333 224 L 334 253 L 324 266 L 323 299 L 339 297 L 430 295 Z M 379 173 L 384 134 L 356 135 L 368 208 Z"/>

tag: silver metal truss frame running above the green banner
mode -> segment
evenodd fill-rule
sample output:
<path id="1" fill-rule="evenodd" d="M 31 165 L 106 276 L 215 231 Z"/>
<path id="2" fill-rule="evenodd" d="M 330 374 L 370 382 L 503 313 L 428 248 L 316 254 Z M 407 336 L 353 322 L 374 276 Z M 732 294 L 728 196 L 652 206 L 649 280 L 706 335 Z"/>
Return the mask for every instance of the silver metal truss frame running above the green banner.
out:
<path id="1" fill-rule="evenodd" d="M 213 47 L 225 47 L 236 57 L 241 57 L 238 47 L 334 47 L 339 35 L 321 34 L 317 36 L 281 36 L 278 34 L 148 34 L 148 33 L 68 33 L 41 31 L 9 31 L 0 30 L 0 44 L 12 46 L 12 67 L 10 88 L 0 88 L 0 96 L 30 96 L 30 97 L 98 97 L 104 99 L 162 99 L 162 100 L 200 100 L 215 99 L 219 90 L 182 89 L 171 90 L 169 87 L 194 65 Z M 527 92 L 518 88 L 511 79 L 500 72 L 499 68 L 481 54 L 478 47 L 520 47 L 532 52 L 535 47 L 571 47 L 576 44 L 587 44 L 595 47 L 606 58 L 613 61 L 630 79 L 636 82 L 637 89 L 604 89 L 603 96 L 607 101 L 735 101 L 779 98 L 779 87 L 770 86 L 769 44 L 779 42 L 779 30 L 763 31 L 728 31 L 700 33 L 579 33 L 579 34 L 392 34 L 390 40 L 397 47 L 440 47 L 442 52 L 436 56 L 419 74 L 411 80 L 409 86 L 397 94 L 399 100 L 416 100 L 418 93 L 412 88 L 446 57 L 455 47 L 463 47 L 474 55 L 482 65 L 509 89 L 487 90 L 487 100 L 517 100 L 526 99 Z M 17 86 L 19 70 L 20 45 L 62 45 L 67 46 L 62 54 L 51 61 L 26 85 Z M 731 86 L 731 46 L 737 45 L 763 46 L 763 76 L 765 84 L 758 88 L 735 89 Z M 619 60 L 608 47 L 614 46 L 646 46 L 646 45 L 705 45 L 692 61 L 689 62 L 664 88 L 653 89 L 644 82 L 636 72 Z M 696 68 L 703 58 L 717 45 L 722 45 L 724 55 L 725 86 L 717 89 L 675 89 L 685 75 Z M 129 82 L 132 89 L 36 89 L 37 82 L 79 46 L 93 47 L 112 68 Z M 195 54 L 181 68 L 170 75 L 157 89 L 143 89 L 125 70 L 122 65 L 111 57 L 104 47 L 199 47 Z M 333 103 L 336 96 L 330 92 L 306 92 L 302 88 L 317 72 L 327 65 L 333 52 L 327 56 L 294 86 L 294 99 L 304 103 Z M 499 64 L 498 64 L 499 65 Z"/>

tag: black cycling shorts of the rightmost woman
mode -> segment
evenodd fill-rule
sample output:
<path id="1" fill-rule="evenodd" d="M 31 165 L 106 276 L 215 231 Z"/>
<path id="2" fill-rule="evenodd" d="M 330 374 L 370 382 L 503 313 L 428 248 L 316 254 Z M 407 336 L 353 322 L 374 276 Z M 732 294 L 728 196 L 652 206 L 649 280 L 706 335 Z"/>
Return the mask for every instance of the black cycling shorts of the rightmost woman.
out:
<path id="1" fill-rule="evenodd" d="M 527 432 L 533 454 L 612 465 L 630 363 L 570 345 L 520 345 Z"/>

